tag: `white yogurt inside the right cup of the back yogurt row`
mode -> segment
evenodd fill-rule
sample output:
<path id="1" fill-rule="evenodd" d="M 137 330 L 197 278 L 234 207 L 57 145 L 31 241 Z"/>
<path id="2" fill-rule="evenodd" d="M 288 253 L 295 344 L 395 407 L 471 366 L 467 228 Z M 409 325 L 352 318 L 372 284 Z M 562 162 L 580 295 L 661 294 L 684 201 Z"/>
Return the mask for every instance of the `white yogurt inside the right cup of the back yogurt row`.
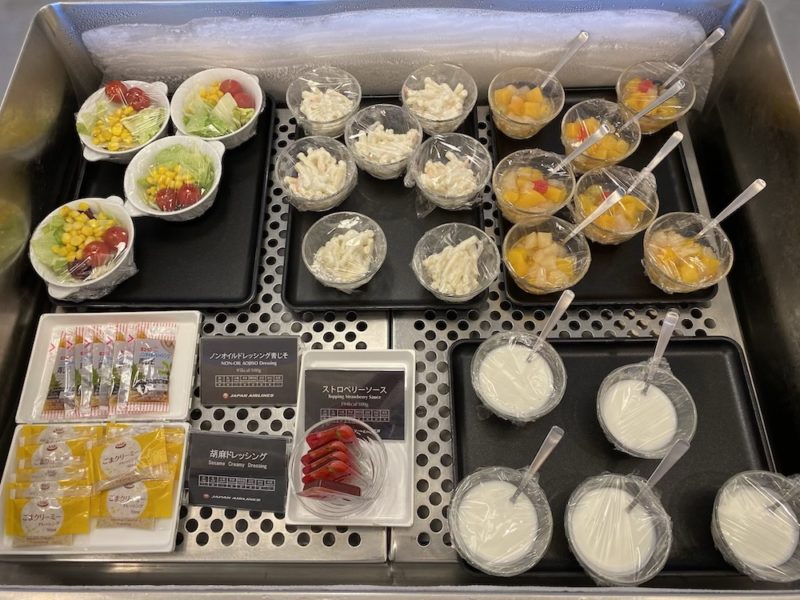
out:
<path id="1" fill-rule="evenodd" d="M 669 397 L 644 382 L 623 379 L 600 398 L 600 414 L 611 436 L 636 452 L 654 452 L 669 445 L 678 430 L 678 414 Z"/>

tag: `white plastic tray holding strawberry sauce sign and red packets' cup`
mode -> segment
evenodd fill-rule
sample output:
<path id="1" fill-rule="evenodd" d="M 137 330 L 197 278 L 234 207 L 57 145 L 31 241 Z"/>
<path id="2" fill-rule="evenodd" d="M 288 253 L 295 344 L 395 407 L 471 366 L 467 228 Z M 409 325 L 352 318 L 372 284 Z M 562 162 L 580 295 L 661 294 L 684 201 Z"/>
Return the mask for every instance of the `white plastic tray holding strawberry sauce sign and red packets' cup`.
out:
<path id="1" fill-rule="evenodd" d="M 306 510 L 289 479 L 286 522 L 290 525 L 347 525 L 410 527 L 414 521 L 414 352 L 412 350 L 310 350 L 303 354 L 297 400 L 294 444 L 303 443 L 305 426 L 305 377 L 307 369 L 403 369 L 405 372 L 405 439 L 384 440 L 389 476 L 381 497 L 363 512 L 324 519 Z"/>

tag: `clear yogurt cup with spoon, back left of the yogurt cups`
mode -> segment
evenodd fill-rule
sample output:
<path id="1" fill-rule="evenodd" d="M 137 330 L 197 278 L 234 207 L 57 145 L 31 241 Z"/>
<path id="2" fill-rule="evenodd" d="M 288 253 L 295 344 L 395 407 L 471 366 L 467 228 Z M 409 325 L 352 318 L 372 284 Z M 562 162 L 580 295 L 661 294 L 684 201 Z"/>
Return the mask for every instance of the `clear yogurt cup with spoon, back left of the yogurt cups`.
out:
<path id="1" fill-rule="evenodd" d="M 502 419 L 535 421 L 564 397 L 567 371 L 553 346 L 544 342 L 527 361 L 536 340 L 527 333 L 498 333 L 478 346 L 472 357 L 472 387 L 483 405 Z"/>

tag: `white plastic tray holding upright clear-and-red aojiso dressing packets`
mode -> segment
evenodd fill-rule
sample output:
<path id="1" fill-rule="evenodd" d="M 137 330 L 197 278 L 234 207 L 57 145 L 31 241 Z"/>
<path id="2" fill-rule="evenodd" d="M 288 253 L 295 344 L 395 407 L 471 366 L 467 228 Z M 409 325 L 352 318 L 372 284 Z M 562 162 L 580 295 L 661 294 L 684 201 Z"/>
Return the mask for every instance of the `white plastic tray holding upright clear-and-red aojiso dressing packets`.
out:
<path id="1" fill-rule="evenodd" d="M 185 421 L 189 417 L 192 404 L 192 383 L 194 381 L 197 338 L 201 315 L 198 311 L 157 311 L 157 312 L 117 312 L 117 313 L 66 313 L 42 315 L 36 338 L 33 341 L 28 372 L 22 387 L 17 423 L 48 422 L 36 414 L 37 401 L 43 397 L 43 390 L 50 378 L 43 365 L 47 363 L 47 348 L 53 330 L 75 325 L 97 325 L 101 323 L 154 323 L 174 322 L 178 326 L 175 336 L 175 354 L 169 379 L 169 408 L 163 413 L 143 413 L 141 415 L 119 415 L 124 421 Z M 59 419 L 59 423 L 83 422 L 87 419 L 76 417 Z M 95 418 L 95 420 L 97 420 Z"/>

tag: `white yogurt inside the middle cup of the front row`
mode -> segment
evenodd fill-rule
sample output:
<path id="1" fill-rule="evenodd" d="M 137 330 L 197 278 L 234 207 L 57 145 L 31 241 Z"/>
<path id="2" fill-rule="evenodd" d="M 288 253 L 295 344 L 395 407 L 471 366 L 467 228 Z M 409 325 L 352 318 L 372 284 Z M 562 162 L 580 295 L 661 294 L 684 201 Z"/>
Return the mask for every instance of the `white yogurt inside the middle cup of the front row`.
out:
<path id="1" fill-rule="evenodd" d="M 586 492 L 567 522 L 573 552 L 592 571 L 616 578 L 634 575 L 650 560 L 656 546 L 653 518 L 620 488 Z"/>

